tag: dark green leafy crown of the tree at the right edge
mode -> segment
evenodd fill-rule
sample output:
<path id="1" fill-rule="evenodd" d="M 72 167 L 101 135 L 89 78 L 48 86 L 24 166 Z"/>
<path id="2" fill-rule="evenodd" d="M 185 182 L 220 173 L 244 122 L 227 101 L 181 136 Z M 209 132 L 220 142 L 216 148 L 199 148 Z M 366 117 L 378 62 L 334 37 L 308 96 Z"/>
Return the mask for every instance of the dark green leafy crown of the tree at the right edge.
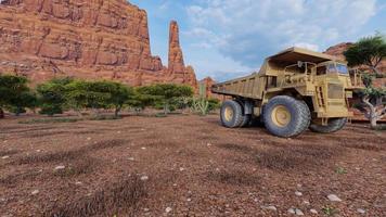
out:
<path id="1" fill-rule="evenodd" d="M 349 66 L 366 65 L 376 75 L 379 74 L 377 66 L 386 58 L 385 38 L 376 36 L 362 38 L 344 52 Z"/>

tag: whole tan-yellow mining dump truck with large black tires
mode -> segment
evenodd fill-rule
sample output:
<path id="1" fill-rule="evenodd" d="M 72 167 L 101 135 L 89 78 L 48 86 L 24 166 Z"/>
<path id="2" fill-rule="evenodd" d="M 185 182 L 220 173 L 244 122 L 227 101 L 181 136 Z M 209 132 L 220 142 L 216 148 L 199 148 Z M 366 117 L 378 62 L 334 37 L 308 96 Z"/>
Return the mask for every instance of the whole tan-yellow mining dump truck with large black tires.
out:
<path id="1" fill-rule="evenodd" d="M 216 84 L 211 91 L 227 95 L 220 112 L 228 128 L 259 118 L 278 137 L 295 137 L 308 128 L 330 133 L 352 116 L 348 100 L 355 85 L 347 63 L 300 48 L 268 58 L 258 73 Z"/>

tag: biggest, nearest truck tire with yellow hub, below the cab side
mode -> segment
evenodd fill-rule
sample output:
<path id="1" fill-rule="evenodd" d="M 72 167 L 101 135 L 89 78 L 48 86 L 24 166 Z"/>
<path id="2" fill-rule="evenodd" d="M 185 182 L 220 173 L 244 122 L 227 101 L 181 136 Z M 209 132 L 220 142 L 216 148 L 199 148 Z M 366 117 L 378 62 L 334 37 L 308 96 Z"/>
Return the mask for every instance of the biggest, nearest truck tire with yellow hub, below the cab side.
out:
<path id="1" fill-rule="evenodd" d="M 283 119 L 285 124 L 275 122 L 278 118 L 276 110 L 285 110 L 286 115 Z M 275 113 L 275 114 L 273 114 Z M 280 114 L 282 116 L 282 114 Z M 262 118 L 266 128 L 278 137 L 295 137 L 308 129 L 311 122 L 311 113 L 304 101 L 296 100 L 287 95 L 272 98 L 263 107 Z M 282 124 L 282 125 L 281 125 Z"/>

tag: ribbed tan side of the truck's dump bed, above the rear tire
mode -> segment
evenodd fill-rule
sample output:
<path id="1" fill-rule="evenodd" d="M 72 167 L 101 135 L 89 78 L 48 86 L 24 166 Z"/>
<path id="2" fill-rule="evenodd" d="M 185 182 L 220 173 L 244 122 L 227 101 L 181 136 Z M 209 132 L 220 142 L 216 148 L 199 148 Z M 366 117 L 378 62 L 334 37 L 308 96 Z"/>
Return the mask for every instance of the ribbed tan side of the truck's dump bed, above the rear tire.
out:
<path id="1" fill-rule="evenodd" d="M 261 79 L 257 73 L 249 76 L 216 84 L 211 87 L 214 93 L 243 97 L 249 99 L 261 99 Z"/>

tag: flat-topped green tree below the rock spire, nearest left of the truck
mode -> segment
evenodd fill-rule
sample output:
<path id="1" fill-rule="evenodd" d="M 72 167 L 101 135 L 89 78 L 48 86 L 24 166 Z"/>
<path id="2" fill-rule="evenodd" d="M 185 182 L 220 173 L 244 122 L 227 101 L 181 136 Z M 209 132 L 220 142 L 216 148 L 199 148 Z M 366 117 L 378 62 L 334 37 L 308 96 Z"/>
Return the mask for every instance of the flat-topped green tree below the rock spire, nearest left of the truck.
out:
<path id="1" fill-rule="evenodd" d="M 158 84 L 138 89 L 140 94 L 151 95 L 153 105 L 160 103 L 164 107 L 164 114 L 167 115 L 170 105 L 181 98 L 192 97 L 193 89 L 189 86 L 180 86 L 173 84 Z"/>

